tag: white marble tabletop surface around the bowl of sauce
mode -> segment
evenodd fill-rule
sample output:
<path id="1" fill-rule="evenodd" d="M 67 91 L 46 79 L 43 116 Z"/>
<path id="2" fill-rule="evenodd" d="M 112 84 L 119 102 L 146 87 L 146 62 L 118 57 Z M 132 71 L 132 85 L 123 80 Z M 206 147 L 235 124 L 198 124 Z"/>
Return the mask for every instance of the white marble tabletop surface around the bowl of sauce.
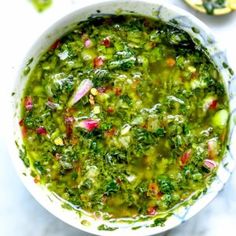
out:
<path id="1" fill-rule="evenodd" d="M 182 0 L 167 1 L 189 10 L 204 21 L 227 49 L 229 61 L 236 70 L 236 12 L 222 17 L 205 16 L 189 9 Z M 28 0 L 0 0 L 0 236 L 89 235 L 56 219 L 33 199 L 15 173 L 5 140 L 8 98 L 14 70 L 42 30 L 61 14 L 83 2 L 54 0 L 51 9 L 38 14 Z M 206 209 L 164 235 L 231 236 L 235 235 L 235 226 L 236 172 Z"/>

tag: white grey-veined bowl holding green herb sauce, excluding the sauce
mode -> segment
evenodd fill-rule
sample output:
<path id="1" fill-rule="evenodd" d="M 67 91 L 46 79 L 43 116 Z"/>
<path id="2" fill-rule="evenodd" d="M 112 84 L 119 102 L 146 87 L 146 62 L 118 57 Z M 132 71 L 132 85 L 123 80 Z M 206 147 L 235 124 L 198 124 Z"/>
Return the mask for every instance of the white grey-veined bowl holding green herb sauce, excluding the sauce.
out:
<path id="1" fill-rule="evenodd" d="M 117 10 L 122 10 L 123 13 L 137 13 L 158 18 L 165 22 L 172 22 L 172 24 L 175 24 L 177 27 L 188 32 L 195 41 L 200 42 L 200 44 L 206 48 L 209 56 L 218 67 L 224 79 L 230 99 L 228 149 L 219 166 L 214 182 L 208 188 L 208 191 L 200 196 L 191 206 L 180 207 L 175 211 L 165 222 L 164 226 L 150 227 L 150 224 L 153 223 L 152 220 L 135 222 L 133 224 L 112 223 L 102 219 L 92 219 L 86 214 L 79 216 L 74 211 L 62 208 L 59 199 L 44 186 L 34 183 L 33 178 L 30 176 L 29 169 L 24 166 L 22 160 L 19 158 L 19 150 L 16 145 L 16 142 L 18 143 L 18 146 L 21 147 L 22 145 L 21 131 L 18 122 L 20 119 L 20 98 L 27 82 L 27 76 L 24 76 L 22 71 L 26 67 L 29 59 L 34 58 L 33 62 L 29 65 L 33 68 L 37 63 L 39 56 L 45 52 L 56 39 L 68 32 L 78 22 L 86 20 L 92 14 L 98 14 L 98 12 L 100 12 L 99 14 L 115 14 Z M 156 0 L 99 0 L 96 4 L 75 9 L 73 12 L 58 20 L 38 38 L 27 53 L 15 81 L 13 89 L 14 96 L 11 98 L 11 125 L 9 127 L 8 139 L 9 151 L 22 182 L 34 198 L 53 215 L 78 229 L 98 235 L 151 235 L 164 232 L 188 220 L 203 209 L 223 188 L 235 165 L 235 155 L 233 155 L 233 153 L 236 153 L 236 145 L 233 146 L 233 140 L 236 140 L 236 131 L 233 120 L 234 114 L 236 113 L 236 78 L 233 78 L 229 68 L 226 67 L 224 63 L 227 63 L 225 53 L 218 47 L 210 30 L 200 20 L 175 6 Z M 101 224 L 116 227 L 117 229 L 111 232 L 98 230 L 97 227 Z M 133 230 L 133 227 L 137 227 L 138 229 Z"/>

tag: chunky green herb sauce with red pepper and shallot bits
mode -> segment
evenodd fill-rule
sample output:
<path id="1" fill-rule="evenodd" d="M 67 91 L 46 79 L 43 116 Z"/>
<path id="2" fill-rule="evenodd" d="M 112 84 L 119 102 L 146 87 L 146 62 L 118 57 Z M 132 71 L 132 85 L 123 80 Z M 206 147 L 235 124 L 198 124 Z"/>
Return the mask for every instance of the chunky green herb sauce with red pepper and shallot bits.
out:
<path id="1" fill-rule="evenodd" d="M 79 23 L 25 87 L 35 182 L 107 218 L 155 216 L 211 183 L 227 139 L 219 72 L 190 36 L 141 16 Z"/>

